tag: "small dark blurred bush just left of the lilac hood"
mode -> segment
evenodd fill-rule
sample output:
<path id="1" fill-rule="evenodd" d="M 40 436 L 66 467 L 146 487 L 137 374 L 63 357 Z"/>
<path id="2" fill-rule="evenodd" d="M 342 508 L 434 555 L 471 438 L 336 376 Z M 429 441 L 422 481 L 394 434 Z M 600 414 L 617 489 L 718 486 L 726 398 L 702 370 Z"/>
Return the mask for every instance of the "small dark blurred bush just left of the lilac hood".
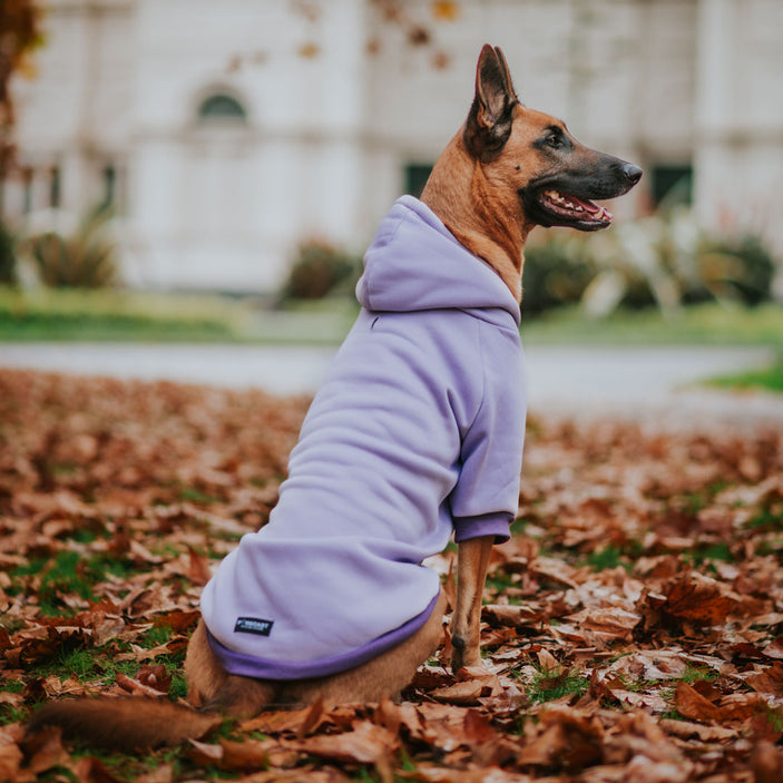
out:
<path id="1" fill-rule="evenodd" d="M 359 258 L 327 242 L 304 242 L 291 266 L 283 298 L 323 298 L 341 288 L 352 288 L 360 268 Z"/>

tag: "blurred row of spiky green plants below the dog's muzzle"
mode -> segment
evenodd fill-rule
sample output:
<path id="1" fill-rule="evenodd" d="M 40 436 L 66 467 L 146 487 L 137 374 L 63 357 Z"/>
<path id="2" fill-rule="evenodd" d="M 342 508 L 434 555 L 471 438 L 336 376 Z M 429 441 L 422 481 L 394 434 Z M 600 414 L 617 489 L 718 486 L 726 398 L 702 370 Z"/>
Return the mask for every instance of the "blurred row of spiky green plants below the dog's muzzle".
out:
<path id="1" fill-rule="evenodd" d="M 671 209 L 591 237 L 550 232 L 525 252 L 522 312 L 578 304 L 588 317 L 655 306 L 671 316 L 688 304 L 748 306 L 772 300 L 776 265 L 753 235 L 713 236 L 693 214 Z"/>

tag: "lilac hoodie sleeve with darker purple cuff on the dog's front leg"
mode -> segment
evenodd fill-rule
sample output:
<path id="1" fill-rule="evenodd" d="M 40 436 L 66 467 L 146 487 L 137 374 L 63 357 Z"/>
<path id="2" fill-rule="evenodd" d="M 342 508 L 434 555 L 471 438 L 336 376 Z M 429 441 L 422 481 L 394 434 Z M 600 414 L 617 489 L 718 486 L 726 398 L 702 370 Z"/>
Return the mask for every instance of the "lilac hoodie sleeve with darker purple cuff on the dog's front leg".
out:
<path id="1" fill-rule="evenodd" d="M 485 389 L 462 438 L 460 477 L 451 492 L 454 540 L 509 538 L 519 507 L 525 439 L 525 366 L 519 335 L 492 329 L 481 334 Z"/>

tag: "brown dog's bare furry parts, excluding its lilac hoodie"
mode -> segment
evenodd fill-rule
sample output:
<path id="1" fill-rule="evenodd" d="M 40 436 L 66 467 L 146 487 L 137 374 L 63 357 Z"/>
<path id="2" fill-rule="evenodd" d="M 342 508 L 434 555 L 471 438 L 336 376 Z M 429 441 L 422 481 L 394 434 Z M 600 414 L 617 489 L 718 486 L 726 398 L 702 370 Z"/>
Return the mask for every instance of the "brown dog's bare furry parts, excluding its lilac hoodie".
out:
<path id="1" fill-rule="evenodd" d="M 519 301 L 522 248 L 534 226 L 604 228 L 611 215 L 590 199 L 623 195 L 640 176 L 636 166 L 583 147 L 560 120 L 522 106 L 501 51 L 485 46 L 468 119 L 438 159 L 421 200 Z M 481 595 L 493 540 L 481 536 L 459 545 L 451 623 L 454 669 L 481 664 Z M 62 701 L 41 708 L 29 728 L 57 724 L 94 744 L 133 750 L 200 735 L 216 715 L 252 716 L 272 704 L 320 697 L 372 702 L 399 695 L 438 647 L 446 608 L 441 591 L 429 619 L 391 649 L 348 671 L 304 679 L 229 674 L 213 654 L 202 623 L 185 662 L 188 702 L 199 712 L 138 698 Z"/>

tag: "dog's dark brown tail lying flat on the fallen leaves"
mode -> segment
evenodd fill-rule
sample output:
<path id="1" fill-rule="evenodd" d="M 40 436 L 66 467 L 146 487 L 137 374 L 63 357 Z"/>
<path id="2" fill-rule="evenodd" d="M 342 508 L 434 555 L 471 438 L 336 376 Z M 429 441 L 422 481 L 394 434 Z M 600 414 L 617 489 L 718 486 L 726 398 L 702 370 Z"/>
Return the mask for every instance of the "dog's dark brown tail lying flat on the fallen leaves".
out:
<path id="1" fill-rule="evenodd" d="M 219 726 L 222 721 L 219 712 L 196 712 L 155 698 L 82 697 L 45 704 L 27 724 L 27 732 L 59 726 L 66 738 L 131 753 L 197 740 Z"/>

